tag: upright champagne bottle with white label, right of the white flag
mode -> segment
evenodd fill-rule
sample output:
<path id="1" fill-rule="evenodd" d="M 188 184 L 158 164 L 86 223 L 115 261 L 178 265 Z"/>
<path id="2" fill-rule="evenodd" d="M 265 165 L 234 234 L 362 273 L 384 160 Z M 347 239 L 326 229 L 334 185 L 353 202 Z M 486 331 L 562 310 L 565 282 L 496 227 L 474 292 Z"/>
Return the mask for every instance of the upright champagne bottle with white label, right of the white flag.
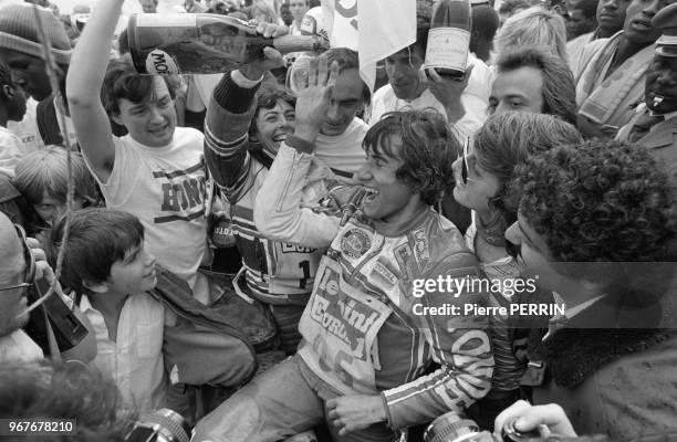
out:
<path id="1" fill-rule="evenodd" d="M 433 9 L 426 67 L 441 76 L 462 78 L 468 62 L 472 15 L 469 0 L 438 0 Z"/>

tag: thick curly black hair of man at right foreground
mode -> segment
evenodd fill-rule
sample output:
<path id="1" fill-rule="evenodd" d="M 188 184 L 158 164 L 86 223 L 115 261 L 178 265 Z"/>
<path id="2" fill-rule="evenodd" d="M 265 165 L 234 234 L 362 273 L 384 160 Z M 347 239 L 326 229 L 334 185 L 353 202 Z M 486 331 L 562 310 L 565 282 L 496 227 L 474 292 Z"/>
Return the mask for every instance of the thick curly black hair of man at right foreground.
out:
<path id="1" fill-rule="evenodd" d="M 645 148 L 601 140 L 559 146 L 527 159 L 515 175 L 520 213 L 553 261 L 671 261 L 674 183 Z"/>

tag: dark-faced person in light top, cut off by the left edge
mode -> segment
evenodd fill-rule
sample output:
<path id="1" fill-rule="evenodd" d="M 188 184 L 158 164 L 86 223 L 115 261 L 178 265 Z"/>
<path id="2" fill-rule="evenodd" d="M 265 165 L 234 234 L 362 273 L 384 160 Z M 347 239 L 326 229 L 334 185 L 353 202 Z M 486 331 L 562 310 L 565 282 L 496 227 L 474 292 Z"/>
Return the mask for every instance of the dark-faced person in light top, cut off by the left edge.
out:
<path id="1" fill-rule="evenodd" d="M 14 176 L 21 158 L 21 139 L 7 129 L 8 122 L 21 122 L 25 115 L 25 95 L 12 82 L 9 67 L 0 59 L 0 173 Z"/>

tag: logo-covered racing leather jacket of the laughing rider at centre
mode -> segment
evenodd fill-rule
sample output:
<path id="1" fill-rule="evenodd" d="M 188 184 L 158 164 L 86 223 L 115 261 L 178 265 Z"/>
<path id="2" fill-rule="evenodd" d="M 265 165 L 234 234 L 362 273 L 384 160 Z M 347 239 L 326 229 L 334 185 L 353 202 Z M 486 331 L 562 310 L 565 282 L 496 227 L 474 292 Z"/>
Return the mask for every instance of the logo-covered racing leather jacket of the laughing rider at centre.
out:
<path id="1" fill-rule="evenodd" d="M 395 429 L 483 397 L 493 369 L 487 317 L 419 314 L 424 306 L 462 308 L 473 294 L 435 288 L 414 296 L 419 281 L 481 275 L 458 229 L 431 209 L 395 227 L 360 212 L 340 225 L 341 213 L 300 204 L 311 162 L 312 155 L 282 144 L 254 210 L 268 235 L 329 246 L 299 325 L 299 355 L 344 394 L 381 393 Z M 431 362 L 440 368 L 423 376 Z"/>

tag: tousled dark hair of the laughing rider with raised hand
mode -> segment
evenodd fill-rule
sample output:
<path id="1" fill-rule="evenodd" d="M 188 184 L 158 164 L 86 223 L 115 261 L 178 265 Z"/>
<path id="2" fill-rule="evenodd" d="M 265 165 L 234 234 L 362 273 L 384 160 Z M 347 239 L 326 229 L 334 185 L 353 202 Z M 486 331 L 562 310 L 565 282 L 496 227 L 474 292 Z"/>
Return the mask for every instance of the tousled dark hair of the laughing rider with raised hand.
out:
<path id="1" fill-rule="evenodd" d="M 388 136 L 402 137 L 402 149 L 393 152 Z M 390 112 L 385 114 L 362 141 L 368 152 L 400 159 L 396 177 L 420 193 L 428 206 L 438 202 L 454 183 L 451 164 L 460 151 L 458 139 L 446 118 L 435 109 Z"/>

